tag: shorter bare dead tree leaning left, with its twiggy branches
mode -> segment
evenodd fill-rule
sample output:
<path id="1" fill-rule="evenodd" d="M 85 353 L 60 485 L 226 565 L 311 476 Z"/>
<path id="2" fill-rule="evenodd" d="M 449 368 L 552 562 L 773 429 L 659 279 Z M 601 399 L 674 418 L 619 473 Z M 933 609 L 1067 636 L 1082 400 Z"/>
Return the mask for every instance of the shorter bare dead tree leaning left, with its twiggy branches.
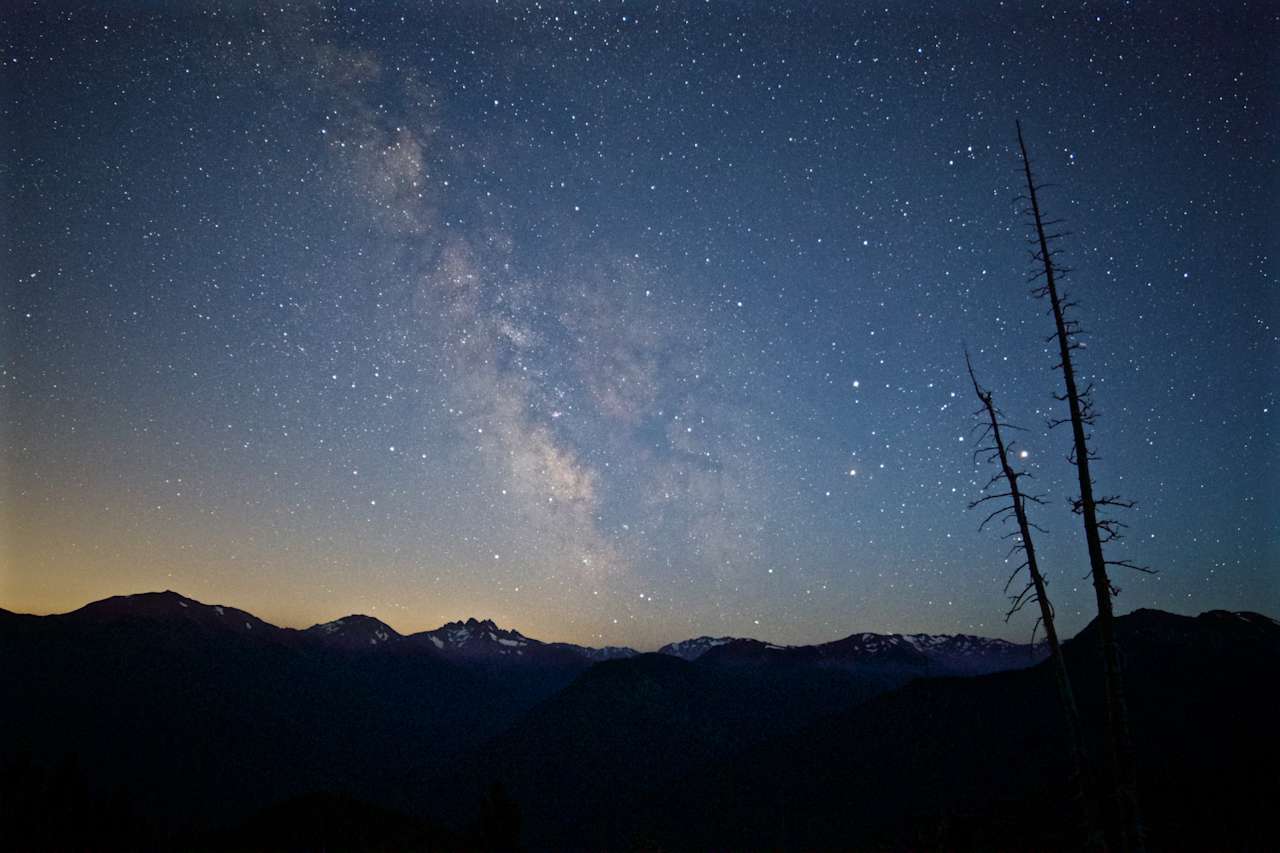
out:
<path id="1" fill-rule="evenodd" d="M 1014 540 L 1009 556 L 1021 555 L 1023 561 L 1009 575 L 1009 580 L 1005 581 L 1005 593 L 1009 593 L 1009 588 L 1014 585 L 1014 581 L 1024 571 L 1027 573 L 1027 580 L 1018 593 L 1009 596 L 1010 606 L 1005 613 L 1005 621 L 1007 622 L 1014 613 L 1018 613 L 1027 605 L 1037 605 L 1039 607 L 1039 616 L 1037 616 L 1036 626 L 1032 629 L 1032 640 L 1034 642 L 1036 639 L 1036 629 L 1043 628 L 1044 640 L 1048 644 L 1050 666 L 1053 669 L 1053 680 L 1057 684 L 1059 704 L 1062 710 L 1062 725 L 1066 731 L 1073 781 L 1087 847 L 1094 850 L 1106 849 L 1106 840 L 1098 820 L 1098 809 L 1093 800 L 1093 775 L 1089 772 L 1089 762 L 1084 752 L 1084 739 L 1080 734 L 1080 712 L 1075 704 L 1075 693 L 1071 690 L 1071 678 L 1066 671 L 1062 647 L 1057 639 L 1057 628 L 1053 624 L 1053 605 L 1050 602 L 1044 575 L 1041 573 L 1039 562 L 1036 558 L 1036 542 L 1032 530 L 1039 530 L 1041 533 L 1044 533 L 1044 530 L 1032 521 L 1027 514 L 1028 502 L 1043 503 L 1044 501 L 1039 496 L 1028 494 L 1023 489 L 1020 480 L 1024 476 L 1029 478 L 1030 474 L 1014 467 L 1014 464 L 1010 461 L 1015 443 L 1006 443 L 1001 430 L 1020 430 L 1021 428 L 1004 419 L 1004 412 L 996 406 L 992 392 L 978 383 L 978 377 L 974 374 L 973 361 L 969 359 L 968 350 L 964 353 L 964 364 L 969 370 L 969 379 L 973 382 L 973 392 L 982 403 L 982 409 L 974 414 L 984 415 L 979 429 L 978 447 L 973 452 L 974 461 L 986 457 L 984 461 L 988 465 L 995 462 L 998 466 L 991 479 L 987 480 L 987 484 L 983 485 L 983 496 L 972 501 L 969 508 L 989 507 L 991 502 L 996 502 L 997 508 L 992 510 L 983 519 L 979 529 L 992 521 L 1007 521 L 1010 517 L 1018 521 L 1018 528 L 1005 534 L 1004 538 Z M 1002 501 L 1004 503 L 1001 503 Z"/>

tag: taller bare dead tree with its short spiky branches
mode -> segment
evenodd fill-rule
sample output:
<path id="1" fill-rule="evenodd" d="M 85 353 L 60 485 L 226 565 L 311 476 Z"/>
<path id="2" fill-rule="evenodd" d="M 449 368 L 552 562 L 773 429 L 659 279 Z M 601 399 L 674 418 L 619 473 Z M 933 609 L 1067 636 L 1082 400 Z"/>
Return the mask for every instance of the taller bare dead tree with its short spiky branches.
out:
<path id="1" fill-rule="evenodd" d="M 1053 316 L 1053 334 L 1046 341 L 1056 341 L 1059 350 L 1059 362 L 1055 369 L 1062 373 L 1065 391 L 1055 394 L 1059 402 L 1065 402 L 1068 416 L 1050 421 L 1051 426 L 1070 424 L 1071 426 L 1071 452 L 1068 460 L 1075 466 L 1080 493 L 1071 501 L 1071 510 L 1080 516 L 1084 524 L 1084 540 L 1089 552 L 1089 578 L 1093 583 L 1093 593 L 1098 607 L 1098 640 L 1101 643 L 1103 688 L 1106 694 L 1106 738 L 1107 738 L 1107 763 L 1114 788 L 1115 806 L 1119 811 L 1120 840 L 1124 849 L 1142 850 L 1146 847 L 1146 831 L 1143 829 L 1142 813 L 1138 807 L 1138 784 L 1134 767 L 1133 740 L 1129 731 L 1129 711 L 1125 702 L 1124 674 L 1120 667 L 1120 648 L 1115 637 L 1115 619 L 1111 607 L 1112 596 L 1120 590 L 1107 576 L 1108 566 L 1121 566 L 1137 571 L 1149 573 L 1149 569 L 1138 566 L 1128 560 L 1107 560 L 1102 552 L 1102 546 L 1120 538 L 1123 524 L 1115 519 L 1102 517 L 1101 511 L 1110 507 L 1132 507 L 1133 503 L 1121 500 L 1119 496 L 1096 497 L 1093 493 L 1093 478 L 1089 474 L 1089 464 L 1096 461 L 1096 456 L 1089 450 L 1089 429 L 1097 420 L 1097 411 L 1093 407 L 1093 384 L 1087 384 L 1083 389 L 1076 383 L 1075 368 L 1071 356 L 1080 348 L 1080 337 L 1085 333 L 1080 329 L 1079 321 L 1069 315 L 1078 307 L 1069 295 L 1060 289 L 1061 279 L 1070 272 L 1057 260 L 1059 250 L 1051 248 L 1051 243 L 1065 237 L 1065 232 L 1052 232 L 1062 220 L 1046 220 L 1041 213 L 1038 191 L 1043 188 L 1037 184 L 1032 175 L 1032 161 L 1027 154 L 1027 143 L 1023 140 L 1023 126 L 1018 123 L 1018 147 L 1023 159 L 1023 174 L 1027 178 L 1027 214 L 1030 215 L 1036 225 L 1036 237 L 1030 241 L 1032 259 L 1037 270 L 1030 277 L 1029 283 L 1034 284 L 1033 293 L 1038 298 L 1048 298 L 1050 314 Z"/>

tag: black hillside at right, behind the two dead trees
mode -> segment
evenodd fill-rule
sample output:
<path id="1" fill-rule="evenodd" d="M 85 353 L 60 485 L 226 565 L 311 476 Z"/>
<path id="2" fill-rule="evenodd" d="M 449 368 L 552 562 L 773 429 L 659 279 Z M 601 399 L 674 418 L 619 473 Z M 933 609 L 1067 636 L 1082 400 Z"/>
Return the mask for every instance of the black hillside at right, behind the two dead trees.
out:
<path id="1" fill-rule="evenodd" d="M 1153 848 L 1270 848 L 1280 628 L 1160 611 L 1117 625 Z M 1092 629 L 1066 654 L 1097 745 Z M 617 838 L 666 849 L 1079 847 L 1051 679 L 1042 665 L 914 681 L 691 774 L 627 809 Z"/>

